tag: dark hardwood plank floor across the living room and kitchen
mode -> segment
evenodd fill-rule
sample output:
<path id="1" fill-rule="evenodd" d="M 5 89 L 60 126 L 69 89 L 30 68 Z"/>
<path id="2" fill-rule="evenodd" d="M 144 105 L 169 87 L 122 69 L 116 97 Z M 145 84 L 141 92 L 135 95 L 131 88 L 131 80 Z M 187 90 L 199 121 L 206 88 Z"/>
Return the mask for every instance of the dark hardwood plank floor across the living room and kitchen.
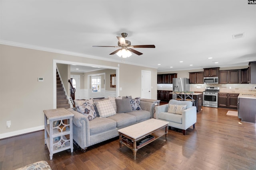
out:
<path id="1" fill-rule="evenodd" d="M 169 129 L 164 137 L 138 150 L 119 150 L 118 138 L 90 147 L 66 150 L 49 158 L 44 131 L 0 140 L 0 169 L 12 170 L 46 160 L 53 170 L 253 170 L 256 169 L 256 125 L 226 115 L 229 109 L 203 107 L 194 131 Z"/>

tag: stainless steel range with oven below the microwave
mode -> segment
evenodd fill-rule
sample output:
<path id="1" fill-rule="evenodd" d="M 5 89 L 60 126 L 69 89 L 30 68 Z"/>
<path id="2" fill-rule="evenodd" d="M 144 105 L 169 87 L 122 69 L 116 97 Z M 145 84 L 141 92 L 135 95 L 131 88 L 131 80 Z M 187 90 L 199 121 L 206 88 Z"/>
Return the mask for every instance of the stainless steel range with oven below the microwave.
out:
<path id="1" fill-rule="evenodd" d="M 205 87 L 203 92 L 203 106 L 218 107 L 218 92 L 220 87 Z"/>

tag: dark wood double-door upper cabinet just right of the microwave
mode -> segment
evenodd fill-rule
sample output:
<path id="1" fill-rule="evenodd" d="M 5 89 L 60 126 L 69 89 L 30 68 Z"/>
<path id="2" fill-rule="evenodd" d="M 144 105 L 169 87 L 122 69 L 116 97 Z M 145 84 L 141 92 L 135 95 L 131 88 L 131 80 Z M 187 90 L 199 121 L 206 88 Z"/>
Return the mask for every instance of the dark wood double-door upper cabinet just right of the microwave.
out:
<path id="1" fill-rule="evenodd" d="M 241 70 L 219 71 L 219 84 L 238 84 L 241 82 Z"/>

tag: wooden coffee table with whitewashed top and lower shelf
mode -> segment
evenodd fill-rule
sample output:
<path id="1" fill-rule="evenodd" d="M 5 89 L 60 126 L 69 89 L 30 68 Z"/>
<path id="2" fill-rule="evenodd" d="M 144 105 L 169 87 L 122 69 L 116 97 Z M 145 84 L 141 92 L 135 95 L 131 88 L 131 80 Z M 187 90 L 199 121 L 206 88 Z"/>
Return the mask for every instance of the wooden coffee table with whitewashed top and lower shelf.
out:
<path id="1" fill-rule="evenodd" d="M 165 127 L 165 130 L 161 130 Z M 119 145 L 122 149 L 122 144 L 126 145 L 128 148 L 132 149 L 134 159 L 136 158 L 137 150 L 148 145 L 154 140 L 165 135 L 167 139 L 168 134 L 168 122 L 158 119 L 149 119 L 142 121 L 135 125 L 131 125 L 122 129 L 119 129 Z M 137 146 L 137 142 L 143 140 L 148 135 L 153 135 L 154 138 L 140 144 Z"/>

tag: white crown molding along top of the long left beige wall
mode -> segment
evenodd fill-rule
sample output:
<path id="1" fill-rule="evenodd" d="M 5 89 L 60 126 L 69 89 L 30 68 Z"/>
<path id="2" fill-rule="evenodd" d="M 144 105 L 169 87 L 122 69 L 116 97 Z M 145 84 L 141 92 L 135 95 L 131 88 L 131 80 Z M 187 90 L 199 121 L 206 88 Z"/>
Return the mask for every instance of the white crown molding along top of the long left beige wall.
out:
<path id="1" fill-rule="evenodd" d="M 2 39 L 0 39 L 0 44 L 10 45 L 10 46 L 14 46 L 14 47 L 22 47 L 22 48 L 27 48 L 27 49 L 40 50 L 40 51 L 47 51 L 47 52 L 52 52 L 52 53 L 65 54 L 65 55 L 73 55 L 73 56 L 77 56 L 77 57 L 86 57 L 86 58 L 90 58 L 90 59 L 97 59 L 97 60 L 103 60 L 103 61 L 111 61 L 111 62 L 115 62 L 115 63 L 131 64 L 131 65 L 136 65 L 136 66 L 143 66 L 143 67 L 156 68 L 157 69 L 157 67 L 150 67 L 150 66 L 147 66 L 147 65 L 144 65 L 144 64 L 124 62 L 123 60 L 120 62 L 120 60 L 115 60 L 115 59 L 107 59 L 107 58 L 104 58 L 104 57 L 98 57 L 98 56 L 94 56 L 94 55 L 87 55 L 87 54 L 83 54 L 83 53 L 76 53 L 76 52 L 65 51 L 65 50 L 60 50 L 60 49 L 52 49 L 52 48 L 48 48 L 48 47 L 41 47 L 41 46 L 37 46 L 37 45 L 30 45 L 30 44 L 18 43 L 18 42 L 13 42 L 13 41 L 6 41 L 6 40 L 2 40 Z"/>

